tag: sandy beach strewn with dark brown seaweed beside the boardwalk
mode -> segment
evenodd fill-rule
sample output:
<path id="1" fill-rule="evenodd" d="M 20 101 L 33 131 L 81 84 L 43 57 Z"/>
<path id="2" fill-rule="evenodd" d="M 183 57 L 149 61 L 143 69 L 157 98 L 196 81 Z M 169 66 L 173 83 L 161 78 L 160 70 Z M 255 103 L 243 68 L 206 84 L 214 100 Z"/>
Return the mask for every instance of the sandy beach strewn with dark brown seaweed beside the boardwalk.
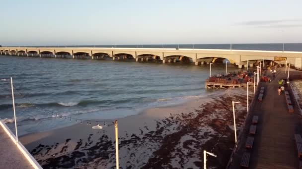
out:
<path id="1" fill-rule="evenodd" d="M 252 96 L 251 92 L 250 100 Z M 208 166 L 225 168 L 234 146 L 231 101 L 241 102 L 235 106 L 239 129 L 246 115 L 246 88 L 218 90 L 181 105 L 118 119 L 120 167 L 199 169 L 207 150 L 218 155 L 208 158 Z M 20 140 L 44 169 L 114 168 L 114 127 L 92 129 L 95 125 L 76 124 Z"/>

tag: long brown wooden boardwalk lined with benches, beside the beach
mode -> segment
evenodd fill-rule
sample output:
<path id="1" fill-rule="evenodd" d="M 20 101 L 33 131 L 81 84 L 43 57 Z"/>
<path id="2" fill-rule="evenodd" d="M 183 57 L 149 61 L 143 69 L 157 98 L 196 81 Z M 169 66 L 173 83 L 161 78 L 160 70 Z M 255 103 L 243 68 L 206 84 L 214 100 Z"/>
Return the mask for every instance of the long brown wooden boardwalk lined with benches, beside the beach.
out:
<path id="1" fill-rule="evenodd" d="M 282 70 L 282 72 L 281 72 Z M 286 79 L 284 69 L 279 69 L 276 80 L 271 83 L 260 83 L 265 87 L 262 102 L 255 100 L 247 119 L 246 128 L 233 156 L 230 169 L 240 169 L 240 161 L 244 152 L 251 154 L 249 169 L 299 169 L 298 151 L 295 133 L 302 134 L 301 116 L 297 106 L 294 113 L 289 113 L 284 93 L 278 95 L 278 79 Z M 291 70 L 292 71 L 292 70 Z M 291 72 L 292 74 L 301 72 Z M 289 87 L 286 87 L 286 90 Z M 259 92 L 259 91 L 258 91 Z M 295 102 L 291 91 L 292 102 Z M 257 99 L 259 93 L 256 93 Z M 252 125 L 252 117 L 259 117 L 253 148 L 247 150 L 245 142 L 250 135 L 248 129 Z"/>

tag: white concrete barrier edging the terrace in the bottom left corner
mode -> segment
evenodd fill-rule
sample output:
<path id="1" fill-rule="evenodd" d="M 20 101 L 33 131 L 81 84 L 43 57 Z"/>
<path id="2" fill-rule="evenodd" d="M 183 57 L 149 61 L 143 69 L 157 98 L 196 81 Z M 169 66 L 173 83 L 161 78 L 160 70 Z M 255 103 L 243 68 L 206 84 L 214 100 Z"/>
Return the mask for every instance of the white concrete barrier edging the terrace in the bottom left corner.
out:
<path id="1" fill-rule="evenodd" d="M 24 157 L 28 160 L 28 162 L 32 165 L 34 169 L 43 169 L 39 163 L 32 157 L 32 155 L 27 151 L 27 149 L 20 142 L 16 142 L 16 137 L 13 135 L 11 130 L 5 125 L 4 122 L 0 120 L 0 126 L 6 132 L 6 134 L 10 137 L 10 139 L 17 145 L 18 149 L 22 152 Z"/>

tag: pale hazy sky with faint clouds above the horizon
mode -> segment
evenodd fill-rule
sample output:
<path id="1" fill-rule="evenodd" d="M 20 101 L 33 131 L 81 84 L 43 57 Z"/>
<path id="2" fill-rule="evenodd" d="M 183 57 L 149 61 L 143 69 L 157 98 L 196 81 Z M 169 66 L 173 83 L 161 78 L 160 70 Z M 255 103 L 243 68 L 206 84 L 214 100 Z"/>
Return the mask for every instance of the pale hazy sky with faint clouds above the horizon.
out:
<path id="1" fill-rule="evenodd" d="M 0 45 L 302 42 L 302 0 L 0 1 Z"/>

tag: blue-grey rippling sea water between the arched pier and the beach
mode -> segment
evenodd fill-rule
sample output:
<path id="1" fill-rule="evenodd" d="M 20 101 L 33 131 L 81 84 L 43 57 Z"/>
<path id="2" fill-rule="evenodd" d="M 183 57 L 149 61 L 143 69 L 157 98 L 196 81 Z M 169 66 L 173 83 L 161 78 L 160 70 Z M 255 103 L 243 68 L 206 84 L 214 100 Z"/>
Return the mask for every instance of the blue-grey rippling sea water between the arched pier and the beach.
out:
<path id="1" fill-rule="evenodd" d="M 212 65 L 212 74 L 224 71 L 223 63 Z M 209 65 L 0 56 L 0 72 L 0 118 L 14 130 L 12 77 L 19 135 L 79 123 L 60 115 L 122 118 L 211 92 Z"/>

